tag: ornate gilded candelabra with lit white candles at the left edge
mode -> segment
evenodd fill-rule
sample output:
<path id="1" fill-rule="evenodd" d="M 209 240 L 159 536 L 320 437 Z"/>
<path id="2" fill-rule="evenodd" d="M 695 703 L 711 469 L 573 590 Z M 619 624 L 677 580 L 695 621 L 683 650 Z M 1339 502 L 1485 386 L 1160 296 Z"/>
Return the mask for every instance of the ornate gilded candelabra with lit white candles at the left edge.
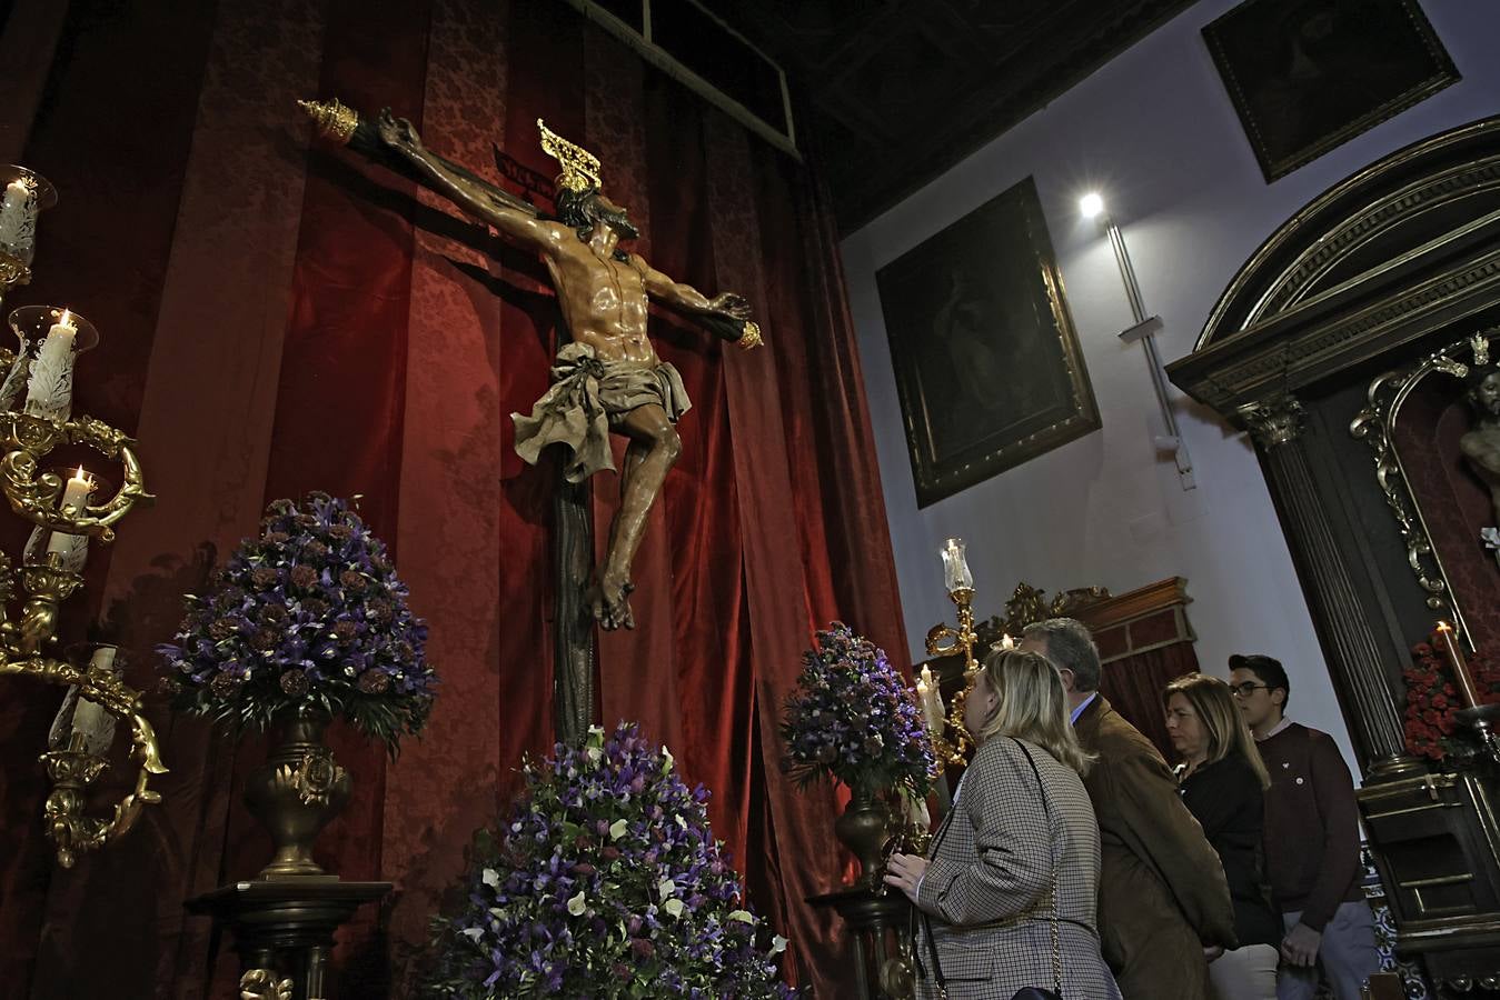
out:
<path id="1" fill-rule="evenodd" d="M 30 279 L 36 216 L 52 199 L 44 178 L 10 168 L 0 201 L 0 294 Z M 104 421 L 72 414 L 74 363 L 99 342 L 93 325 L 68 309 L 26 306 L 10 313 L 10 328 L 20 346 L 0 351 L 6 372 L 0 384 L 0 492 L 34 528 L 20 564 L 0 553 L 0 676 L 72 688 L 52 727 L 51 748 L 40 757 L 52 783 L 44 805 L 46 835 L 57 846 L 58 864 L 70 868 L 80 853 L 118 838 L 142 807 L 160 801 L 148 787 L 152 775 L 166 772 L 156 733 L 141 714 L 140 693 L 120 679 L 112 648 L 100 649 L 87 666 L 56 652 L 58 612 L 84 585 L 90 540 L 114 541 L 114 525 L 150 495 L 135 442 Z M 44 471 L 42 460 L 63 447 L 90 448 L 118 463 L 120 487 L 94 502 L 99 483 L 82 468 L 66 483 Z M 21 603 L 15 619 L 12 600 Z M 114 813 L 94 817 L 86 814 L 87 792 L 108 768 L 116 720 L 130 727 L 130 756 L 140 771 Z"/>

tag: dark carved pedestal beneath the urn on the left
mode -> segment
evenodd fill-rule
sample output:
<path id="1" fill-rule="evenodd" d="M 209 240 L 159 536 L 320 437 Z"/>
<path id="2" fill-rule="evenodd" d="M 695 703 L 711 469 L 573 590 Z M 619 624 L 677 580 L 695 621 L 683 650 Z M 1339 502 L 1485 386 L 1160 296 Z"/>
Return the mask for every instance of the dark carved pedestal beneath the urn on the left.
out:
<path id="1" fill-rule="evenodd" d="M 333 933 L 366 903 L 390 892 L 388 882 L 332 877 L 234 882 L 188 901 L 188 912 L 230 928 L 242 972 L 291 976 L 291 1000 L 327 1000 L 324 975 Z"/>

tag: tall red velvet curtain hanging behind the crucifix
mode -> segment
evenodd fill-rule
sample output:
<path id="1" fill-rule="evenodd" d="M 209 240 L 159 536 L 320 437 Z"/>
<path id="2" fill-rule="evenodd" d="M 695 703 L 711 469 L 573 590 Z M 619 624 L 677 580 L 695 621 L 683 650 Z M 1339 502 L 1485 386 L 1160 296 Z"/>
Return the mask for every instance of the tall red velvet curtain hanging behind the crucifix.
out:
<path id="1" fill-rule="evenodd" d="M 294 100 L 315 94 L 388 105 L 483 174 L 492 142 L 555 172 L 543 117 L 600 156 L 654 265 L 756 304 L 768 348 L 752 354 L 656 322 L 694 408 L 638 558 L 639 627 L 600 643 L 600 694 L 606 723 L 640 721 L 712 790 L 752 901 L 792 939 L 792 978 L 838 996 L 838 931 L 802 901 L 837 880 L 834 802 L 780 775 L 777 715 L 818 624 L 843 618 L 898 660 L 906 640 L 832 229 L 807 172 L 564 3 L 66 6 L 45 84 L 0 108 L 24 115 L 0 136 L 28 136 L 20 162 L 62 192 L 36 279 L 6 304 L 68 303 L 99 325 L 78 408 L 136 433 L 160 496 L 96 549 L 68 628 L 105 621 L 134 652 L 129 681 L 148 687 L 182 594 L 266 501 L 310 489 L 362 496 L 430 624 L 444 687 L 424 738 L 394 765 L 333 738 L 357 786 L 321 861 L 398 886 L 340 937 L 342 996 L 404 996 L 470 835 L 508 804 L 522 754 L 552 742 L 554 469 L 516 459 L 508 414 L 546 385 L 558 313 L 536 261 L 390 174 L 309 151 Z M 606 519 L 614 481 L 596 487 Z M 226 943 L 180 904 L 262 864 L 268 843 L 238 804 L 262 741 L 236 745 L 148 699 L 165 802 L 62 873 L 34 766 L 58 693 L 4 684 L 0 982 L 33 997 L 231 996 Z"/>

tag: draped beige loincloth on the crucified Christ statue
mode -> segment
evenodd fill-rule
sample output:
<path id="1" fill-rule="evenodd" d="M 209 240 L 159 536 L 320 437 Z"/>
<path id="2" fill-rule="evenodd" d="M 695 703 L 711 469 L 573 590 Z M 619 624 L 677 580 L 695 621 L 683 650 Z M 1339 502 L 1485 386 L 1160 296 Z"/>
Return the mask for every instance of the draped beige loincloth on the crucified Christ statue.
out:
<path id="1" fill-rule="evenodd" d="M 568 343 L 558 351 L 552 387 L 531 408 L 531 415 L 510 415 L 516 423 L 516 454 L 536 465 L 549 444 L 567 445 L 568 483 L 582 483 L 600 469 L 614 471 L 609 429 L 650 403 L 664 409 L 672 423 L 693 408 L 672 364 L 600 361 L 592 346 Z"/>

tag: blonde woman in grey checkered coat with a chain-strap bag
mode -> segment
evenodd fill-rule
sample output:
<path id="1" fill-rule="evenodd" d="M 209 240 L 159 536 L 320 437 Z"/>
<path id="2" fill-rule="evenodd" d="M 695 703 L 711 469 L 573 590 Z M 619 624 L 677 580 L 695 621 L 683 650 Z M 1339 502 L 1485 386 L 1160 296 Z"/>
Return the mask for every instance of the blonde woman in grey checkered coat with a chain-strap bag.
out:
<path id="1" fill-rule="evenodd" d="M 1011 1000 L 1023 987 L 1118 1000 L 1095 925 L 1100 828 L 1080 778 L 1089 759 L 1056 669 L 1034 652 L 992 652 L 964 726 L 978 750 L 928 858 L 896 855 L 885 876 L 921 912 L 918 996 L 942 996 L 942 982 L 950 1000 Z"/>

